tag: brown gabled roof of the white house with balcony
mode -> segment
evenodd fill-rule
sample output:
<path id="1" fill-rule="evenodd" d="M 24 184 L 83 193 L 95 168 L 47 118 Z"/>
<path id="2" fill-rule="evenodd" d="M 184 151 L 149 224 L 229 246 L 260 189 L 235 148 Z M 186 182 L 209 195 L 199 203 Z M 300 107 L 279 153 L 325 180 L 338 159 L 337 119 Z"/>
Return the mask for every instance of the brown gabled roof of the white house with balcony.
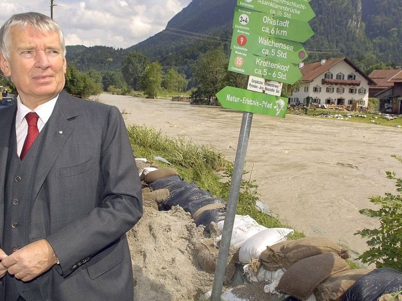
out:
<path id="1" fill-rule="evenodd" d="M 376 82 L 374 82 L 372 79 L 370 79 L 368 76 L 366 76 L 355 64 L 353 64 L 348 58 L 342 57 L 342 58 L 336 58 L 332 60 L 322 60 L 319 62 L 315 63 L 309 63 L 309 64 L 304 64 L 302 68 L 300 68 L 300 72 L 302 72 L 302 81 L 303 82 L 312 82 L 315 80 L 317 77 L 322 75 L 323 73 L 327 72 L 331 67 L 335 66 L 339 62 L 345 61 L 347 64 L 349 64 L 356 72 L 360 73 L 370 85 L 375 85 Z M 322 62 L 324 62 L 322 64 Z"/>

